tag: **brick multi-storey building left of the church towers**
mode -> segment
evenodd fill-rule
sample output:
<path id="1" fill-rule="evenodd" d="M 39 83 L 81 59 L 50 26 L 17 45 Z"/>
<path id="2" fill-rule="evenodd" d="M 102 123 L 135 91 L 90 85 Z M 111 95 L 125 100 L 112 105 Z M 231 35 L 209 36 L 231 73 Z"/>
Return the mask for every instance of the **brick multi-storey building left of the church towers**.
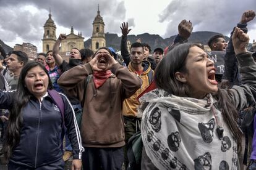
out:
<path id="1" fill-rule="evenodd" d="M 14 51 L 25 52 L 30 60 L 35 60 L 37 57 L 37 47 L 28 42 L 23 44 L 15 44 Z"/>

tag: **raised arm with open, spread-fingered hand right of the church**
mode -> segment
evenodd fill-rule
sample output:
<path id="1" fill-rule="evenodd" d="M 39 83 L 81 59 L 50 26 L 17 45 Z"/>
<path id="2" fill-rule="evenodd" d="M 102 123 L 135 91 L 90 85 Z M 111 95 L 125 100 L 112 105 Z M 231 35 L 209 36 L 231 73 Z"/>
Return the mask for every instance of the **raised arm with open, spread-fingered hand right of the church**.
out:
<path id="1" fill-rule="evenodd" d="M 126 63 L 126 65 L 129 65 L 130 63 L 130 54 L 127 51 L 127 34 L 129 34 L 130 30 L 128 28 L 128 23 L 122 23 L 122 26 L 120 26 L 121 30 L 122 30 L 122 39 L 121 39 L 121 55 L 122 55 L 122 59 L 124 59 L 124 63 Z"/>

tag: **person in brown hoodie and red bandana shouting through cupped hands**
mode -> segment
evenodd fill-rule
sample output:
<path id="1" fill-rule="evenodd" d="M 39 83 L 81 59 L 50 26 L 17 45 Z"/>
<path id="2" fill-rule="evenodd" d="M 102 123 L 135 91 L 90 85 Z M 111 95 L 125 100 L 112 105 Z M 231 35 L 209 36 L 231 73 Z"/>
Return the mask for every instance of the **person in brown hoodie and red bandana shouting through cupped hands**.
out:
<path id="1" fill-rule="evenodd" d="M 83 169 L 121 169 L 125 145 L 122 102 L 140 88 L 140 78 L 101 47 L 89 63 L 66 71 L 58 83 L 83 105 Z"/>

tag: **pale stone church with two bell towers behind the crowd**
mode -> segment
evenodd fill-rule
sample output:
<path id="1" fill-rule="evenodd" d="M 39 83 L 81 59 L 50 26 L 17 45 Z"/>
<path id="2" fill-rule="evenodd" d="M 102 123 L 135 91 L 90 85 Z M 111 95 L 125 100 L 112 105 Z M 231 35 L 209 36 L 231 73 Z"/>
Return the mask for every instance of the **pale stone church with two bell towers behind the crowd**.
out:
<path id="1" fill-rule="evenodd" d="M 106 46 L 105 32 L 104 32 L 105 23 L 103 22 L 103 18 L 100 15 L 100 9 L 98 6 L 97 15 L 93 21 L 93 33 L 92 33 L 92 44 L 91 49 L 93 52 L 96 52 L 100 47 Z M 53 50 L 53 46 L 56 42 L 56 25 L 51 16 L 51 10 L 49 12 L 49 18 L 46 20 L 43 34 L 43 52 L 48 52 Z M 59 35 L 58 35 L 59 36 Z M 69 52 L 72 48 L 76 47 L 77 49 L 83 49 L 83 36 L 82 32 L 78 34 L 74 33 L 74 28 L 71 26 L 70 34 L 67 34 L 67 38 L 61 42 L 61 49 L 59 50 L 59 54 L 65 58 L 69 56 Z"/>

